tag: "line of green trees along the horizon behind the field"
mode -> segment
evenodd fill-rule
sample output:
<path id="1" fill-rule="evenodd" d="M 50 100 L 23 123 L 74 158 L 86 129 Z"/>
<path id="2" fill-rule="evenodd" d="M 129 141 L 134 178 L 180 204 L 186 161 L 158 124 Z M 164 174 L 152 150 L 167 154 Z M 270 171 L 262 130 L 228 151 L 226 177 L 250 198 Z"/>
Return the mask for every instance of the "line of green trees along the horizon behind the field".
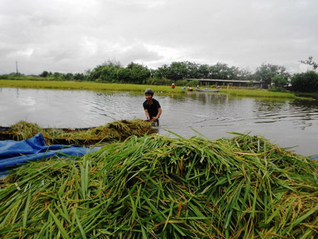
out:
<path id="1" fill-rule="evenodd" d="M 302 64 L 312 66 L 312 71 L 300 74 L 289 74 L 285 66 L 276 64 L 261 64 L 254 73 L 236 66 L 220 63 L 214 65 L 196 64 L 195 62 L 172 62 L 164 64 L 158 69 L 148 69 L 143 64 L 131 62 L 122 66 L 120 62 L 107 61 L 88 70 L 84 74 L 61 74 L 59 72 L 43 71 L 42 78 L 61 81 L 95 81 L 105 83 L 137 83 L 150 85 L 187 86 L 197 82 L 188 82 L 187 78 L 209 78 L 223 80 L 259 81 L 264 86 L 271 86 L 271 90 L 283 91 L 286 86 L 292 91 L 317 92 L 318 91 L 318 64 L 308 57 Z M 4 78 L 4 75 L 0 78 Z"/>

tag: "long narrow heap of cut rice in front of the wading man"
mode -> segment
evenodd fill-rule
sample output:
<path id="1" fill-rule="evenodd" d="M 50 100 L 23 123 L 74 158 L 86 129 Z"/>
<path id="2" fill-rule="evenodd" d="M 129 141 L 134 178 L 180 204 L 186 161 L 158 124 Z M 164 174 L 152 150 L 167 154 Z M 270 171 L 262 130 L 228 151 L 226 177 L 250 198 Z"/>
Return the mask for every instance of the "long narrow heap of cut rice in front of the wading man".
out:
<path id="1" fill-rule="evenodd" d="M 37 124 L 20 121 L 8 130 L 0 132 L 2 138 L 23 140 L 30 139 L 41 132 L 47 144 L 88 145 L 99 142 L 126 139 L 131 135 L 143 136 L 152 134 L 155 129 L 141 119 L 121 120 L 104 126 L 88 129 L 42 129 Z"/>

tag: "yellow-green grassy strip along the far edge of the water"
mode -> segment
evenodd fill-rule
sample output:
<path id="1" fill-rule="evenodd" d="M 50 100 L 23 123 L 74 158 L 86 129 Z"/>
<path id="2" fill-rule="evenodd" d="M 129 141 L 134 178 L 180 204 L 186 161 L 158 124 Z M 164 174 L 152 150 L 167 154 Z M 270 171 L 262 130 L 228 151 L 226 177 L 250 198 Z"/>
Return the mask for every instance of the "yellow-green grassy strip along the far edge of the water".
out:
<path id="1" fill-rule="evenodd" d="M 0 80 L 0 87 L 17 88 L 45 88 L 45 89 L 63 89 L 63 90 L 88 90 L 88 91 L 145 91 L 146 88 L 152 88 L 153 91 L 163 93 L 184 93 L 181 86 L 172 90 L 170 86 L 147 86 L 122 83 L 95 83 L 95 82 L 75 82 L 75 81 L 11 81 Z M 195 91 L 195 89 L 194 89 Z M 297 98 L 293 93 L 270 92 L 262 89 L 231 89 L 221 88 L 220 93 L 229 95 L 262 97 L 262 98 Z"/>

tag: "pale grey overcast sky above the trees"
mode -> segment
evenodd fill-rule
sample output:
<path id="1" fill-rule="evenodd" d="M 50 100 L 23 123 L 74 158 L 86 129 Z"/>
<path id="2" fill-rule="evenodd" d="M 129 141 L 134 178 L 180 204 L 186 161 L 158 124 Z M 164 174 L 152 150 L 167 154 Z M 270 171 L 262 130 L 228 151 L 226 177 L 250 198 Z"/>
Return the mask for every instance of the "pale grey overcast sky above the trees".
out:
<path id="1" fill-rule="evenodd" d="M 0 74 L 83 73 L 116 60 L 318 62 L 317 0 L 0 0 Z"/>

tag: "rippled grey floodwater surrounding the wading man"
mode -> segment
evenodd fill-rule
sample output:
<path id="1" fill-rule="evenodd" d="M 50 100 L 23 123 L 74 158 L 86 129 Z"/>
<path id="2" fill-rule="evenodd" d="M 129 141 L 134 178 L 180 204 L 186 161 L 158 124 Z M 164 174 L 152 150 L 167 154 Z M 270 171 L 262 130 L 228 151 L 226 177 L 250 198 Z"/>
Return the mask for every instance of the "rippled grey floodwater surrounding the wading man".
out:
<path id="1" fill-rule="evenodd" d="M 220 93 L 155 93 L 163 109 L 160 134 L 189 138 L 259 134 L 305 156 L 318 153 L 318 102 L 237 98 Z M 41 127 L 95 127 L 119 119 L 146 119 L 136 93 L 0 88 L 0 126 L 20 120 Z"/>

